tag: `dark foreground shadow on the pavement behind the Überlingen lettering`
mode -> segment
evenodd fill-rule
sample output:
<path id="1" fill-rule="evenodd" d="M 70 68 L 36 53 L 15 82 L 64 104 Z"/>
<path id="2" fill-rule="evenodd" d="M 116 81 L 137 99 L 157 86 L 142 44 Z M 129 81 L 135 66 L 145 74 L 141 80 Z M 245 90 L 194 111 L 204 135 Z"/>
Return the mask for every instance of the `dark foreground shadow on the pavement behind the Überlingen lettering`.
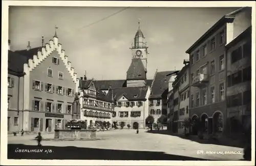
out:
<path id="1" fill-rule="evenodd" d="M 115 143 L 113 143 L 115 144 Z M 15 152 L 16 150 L 16 152 Z M 18 150 L 24 152 L 17 152 Z M 28 150 L 28 152 L 25 152 Z M 33 152 L 32 152 L 33 150 Z M 36 150 L 36 152 L 35 152 Z M 40 151 L 41 150 L 41 151 Z M 47 153 L 48 150 L 52 152 Z M 8 159 L 67 159 L 67 160 L 206 160 L 163 152 L 127 151 L 78 147 L 30 146 L 8 144 Z"/>

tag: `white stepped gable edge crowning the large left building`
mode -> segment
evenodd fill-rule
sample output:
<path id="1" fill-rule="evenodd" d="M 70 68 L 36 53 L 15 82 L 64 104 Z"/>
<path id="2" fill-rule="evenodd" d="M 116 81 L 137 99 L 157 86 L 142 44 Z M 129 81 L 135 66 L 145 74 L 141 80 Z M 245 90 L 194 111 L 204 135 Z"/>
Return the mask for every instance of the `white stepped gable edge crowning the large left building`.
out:
<path id="1" fill-rule="evenodd" d="M 19 50 L 15 52 L 17 54 L 22 54 L 27 59 L 25 63 L 21 62 L 23 63 L 23 71 L 25 73 L 31 72 L 32 69 L 36 68 L 41 62 L 49 57 L 53 51 L 56 51 L 70 73 L 73 82 L 76 82 L 77 74 L 74 72 L 74 67 L 71 67 L 71 62 L 68 61 L 68 56 L 65 55 L 65 50 L 61 49 L 61 44 L 58 43 L 58 38 L 54 36 L 53 40 L 49 40 L 49 43 L 46 43 L 45 46 L 30 50 Z"/>

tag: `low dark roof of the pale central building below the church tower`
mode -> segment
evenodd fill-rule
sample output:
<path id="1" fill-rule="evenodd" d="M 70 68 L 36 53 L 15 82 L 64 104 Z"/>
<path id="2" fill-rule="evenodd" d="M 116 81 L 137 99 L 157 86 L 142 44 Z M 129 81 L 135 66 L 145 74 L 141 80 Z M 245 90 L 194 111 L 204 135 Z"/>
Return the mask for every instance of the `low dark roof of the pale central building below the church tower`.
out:
<path id="1" fill-rule="evenodd" d="M 129 101 L 145 100 L 148 86 L 142 87 L 123 87 L 111 89 L 113 90 L 114 100 L 125 96 Z"/>

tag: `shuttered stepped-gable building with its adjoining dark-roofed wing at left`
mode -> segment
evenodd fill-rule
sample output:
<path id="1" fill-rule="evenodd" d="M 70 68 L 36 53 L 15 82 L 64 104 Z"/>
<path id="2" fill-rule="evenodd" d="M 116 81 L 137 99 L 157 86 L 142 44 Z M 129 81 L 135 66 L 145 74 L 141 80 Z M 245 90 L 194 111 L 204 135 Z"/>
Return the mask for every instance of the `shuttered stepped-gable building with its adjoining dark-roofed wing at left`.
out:
<path id="1" fill-rule="evenodd" d="M 8 125 L 17 125 L 8 127 L 9 131 L 53 132 L 64 129 L 67 120 L 79 118 L 80 112 L 72 110 L 77 74 L 61 49 L 56 32 L 45 45 L 42 40 L 42 46 L 37 48 L 28 44 L 26 50 L 9 51 L 8 61 L 8 91 L 13 92 L 8 93 L 12 95 Z M 12 70 L 20 75 L 11 75 L 15 73 Z M 14 99 L 17 92 L 20 92 L 18 99 Z"/>

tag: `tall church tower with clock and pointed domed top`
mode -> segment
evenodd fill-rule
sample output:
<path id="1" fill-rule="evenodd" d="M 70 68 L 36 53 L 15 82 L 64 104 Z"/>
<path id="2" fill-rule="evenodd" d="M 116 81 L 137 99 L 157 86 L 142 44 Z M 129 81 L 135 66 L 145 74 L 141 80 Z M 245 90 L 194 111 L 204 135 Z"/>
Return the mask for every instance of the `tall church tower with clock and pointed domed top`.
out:
<path id="1" fill-rule="evenodd" d="M 146 67 L 147 67 L 147 45 L 145 37 L 140 30 L 140 22 L 138 31 L 135 34 L 134 44 L 130 48 L 132 50 L 132 63 L 126 72 L 126 86 L 145 86 L 146 84 Z"/>

